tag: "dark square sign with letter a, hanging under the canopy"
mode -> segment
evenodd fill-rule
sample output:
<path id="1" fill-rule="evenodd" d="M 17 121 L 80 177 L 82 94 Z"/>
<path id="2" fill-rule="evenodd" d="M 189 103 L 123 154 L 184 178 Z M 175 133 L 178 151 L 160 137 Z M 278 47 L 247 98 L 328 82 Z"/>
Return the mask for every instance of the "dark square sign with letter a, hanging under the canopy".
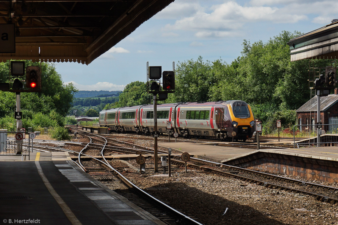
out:
<path id="1" fill-rule="evenodd" d="M 0 24 L 0 53 L 15 53 L 14 24 Z"/>

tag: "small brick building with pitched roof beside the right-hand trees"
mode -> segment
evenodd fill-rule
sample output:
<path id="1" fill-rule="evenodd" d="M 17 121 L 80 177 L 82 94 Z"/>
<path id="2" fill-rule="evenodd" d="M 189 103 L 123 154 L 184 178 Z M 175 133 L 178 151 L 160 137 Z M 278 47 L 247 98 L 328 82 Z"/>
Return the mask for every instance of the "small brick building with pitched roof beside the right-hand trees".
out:
<path id="1" fill-rule="evenodd" d="M 317 101 L 316 96 L 296 110 L 297 124 L 300 131 L 316 129 Z M 338 123 L 338 88 L 334 94 L 320 97 L 320 121 L 322 124 Z M 304 126 L 303 126 L 304 125 Z M 337 133 L 338 125 L 324 126 L 323 130 Z"/>

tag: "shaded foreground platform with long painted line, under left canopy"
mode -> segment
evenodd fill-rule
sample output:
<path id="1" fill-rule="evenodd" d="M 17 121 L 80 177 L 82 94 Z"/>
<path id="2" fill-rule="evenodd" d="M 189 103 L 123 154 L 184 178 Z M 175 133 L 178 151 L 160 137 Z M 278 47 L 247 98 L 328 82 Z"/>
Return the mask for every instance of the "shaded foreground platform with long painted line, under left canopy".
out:
<path id="1" fill-rule="evenodd" d="M 0 224 L 164 225 L 83 172 L 68 153 L 21 160 L 0 156 Z"/>

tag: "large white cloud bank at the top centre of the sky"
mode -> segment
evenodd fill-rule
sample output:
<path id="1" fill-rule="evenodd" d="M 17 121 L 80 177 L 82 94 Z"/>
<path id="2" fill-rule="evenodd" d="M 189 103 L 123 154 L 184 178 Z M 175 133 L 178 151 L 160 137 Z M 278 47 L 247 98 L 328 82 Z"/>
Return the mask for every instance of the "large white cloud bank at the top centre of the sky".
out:
<path id="1" fill-rule="evenodd" d="M 279 0 L 282 3 L 282 0 Z M 193 31 L 195 36 L 203 37 L 229 37 L 238 36 L 245 24 L 256 22 L 296 23 L 307 20 L 306 12 L 299 13 L 290 10 L 289 5 L 263 6 L 272 4 L 272 0 L 252 1 L 257 6 L 240 5 L 235 1 L 226 1 L 209 8 L 195 7 L 195 13 L 167 24 L 164 29 Z M 289 1 L 290 4 L 291 1 Z M 279 6 L 279 7 L 277 7 Z M 299 9 L 298 9 L 299 10 Z M 188 13 L 189 14 L 189 13 Z"/>

